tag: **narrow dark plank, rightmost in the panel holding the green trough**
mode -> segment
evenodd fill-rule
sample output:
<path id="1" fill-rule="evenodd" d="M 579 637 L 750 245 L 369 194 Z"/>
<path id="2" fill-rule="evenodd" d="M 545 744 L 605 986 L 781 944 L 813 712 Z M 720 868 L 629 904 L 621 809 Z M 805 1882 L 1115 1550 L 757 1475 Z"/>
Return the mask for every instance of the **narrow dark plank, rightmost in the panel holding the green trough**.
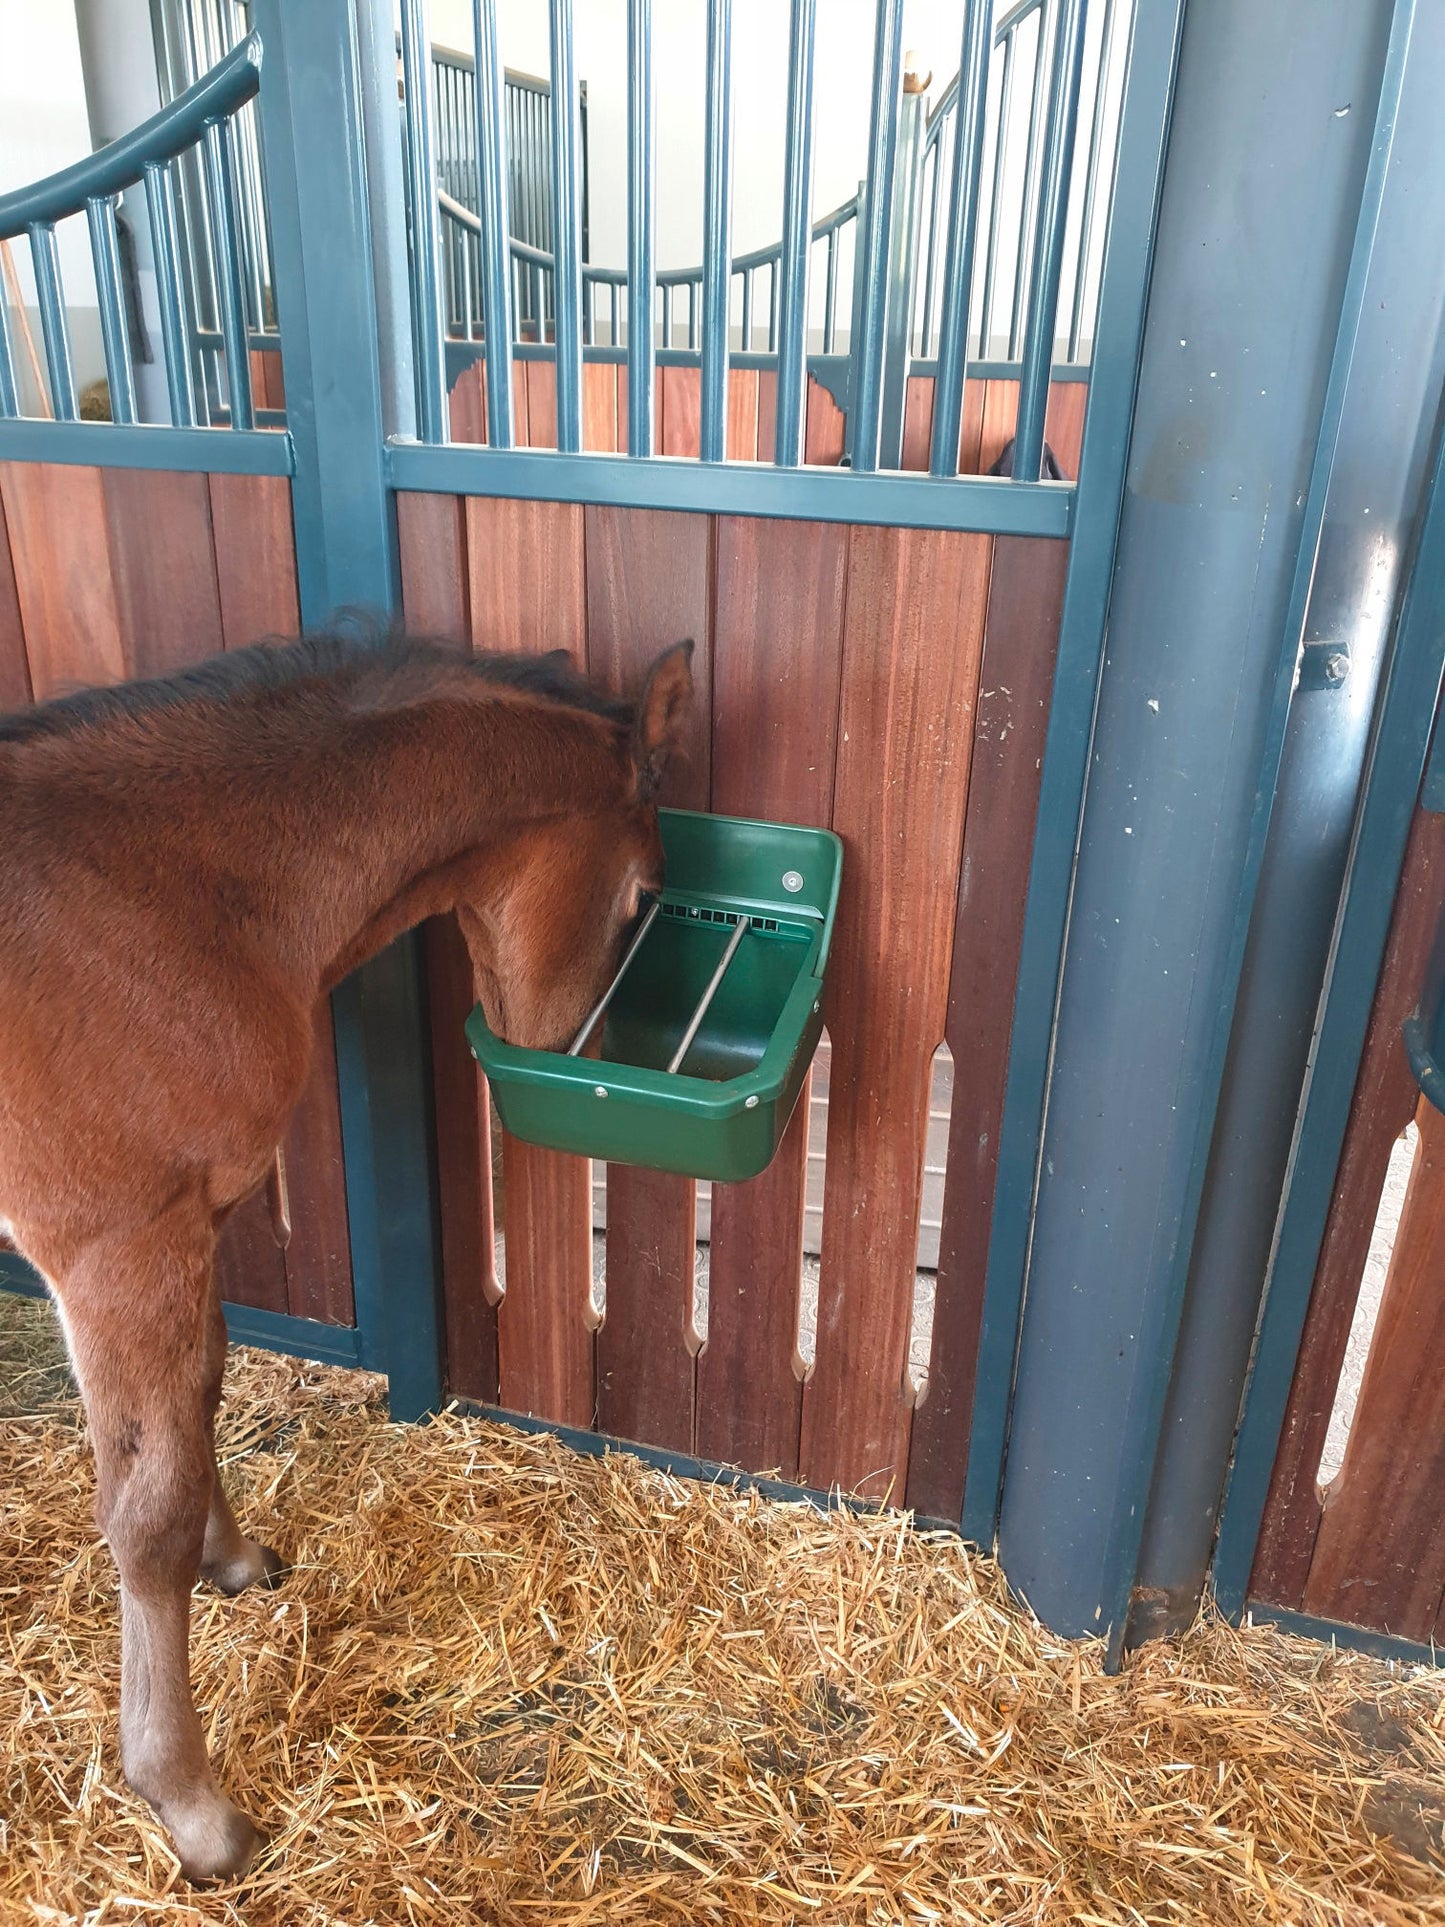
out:
<path id="1" fill-rule="evenodd" d="M 929 1518 L 963 1511 L 1013 989 L 1067 567 L 1064 541 L 994 541 L 944 1033 L 954 1102 L 933 1341 L 907 1457 L 907 1503 Z"/>

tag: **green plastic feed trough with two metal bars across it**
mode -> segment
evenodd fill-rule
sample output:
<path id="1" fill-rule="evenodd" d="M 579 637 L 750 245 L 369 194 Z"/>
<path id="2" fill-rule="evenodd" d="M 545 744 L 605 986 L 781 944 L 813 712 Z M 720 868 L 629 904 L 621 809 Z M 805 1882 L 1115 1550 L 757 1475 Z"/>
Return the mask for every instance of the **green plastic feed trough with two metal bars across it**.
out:
<path id="1" fill-rule="evenodd" d="M 767 1168 L 823 1029 L 842 844 L 659 811 L 667 884 L 570 1052 L 518 1050 L 482 1006 L 472 1052 L 514 1137 L 736 1181 Z M 601 1058 L 580 1056 L 601 1023 Z"/>

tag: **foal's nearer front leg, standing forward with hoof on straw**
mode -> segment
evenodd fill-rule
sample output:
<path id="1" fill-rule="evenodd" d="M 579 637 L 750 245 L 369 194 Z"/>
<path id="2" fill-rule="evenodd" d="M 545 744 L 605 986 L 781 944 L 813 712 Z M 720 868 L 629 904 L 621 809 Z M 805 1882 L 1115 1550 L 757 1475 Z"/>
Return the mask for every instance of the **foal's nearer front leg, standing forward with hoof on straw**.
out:
<path id="1" fill-rule="evenodd" d="M 256 1829 L 216 1786 L 191 1702 L 189 1611 L 216 1463 L 206 1411 L 214 1233 L 198 1199 L 92 1245 L 62 1280 L 121 1582 L 121 1763 L 191 1879 L 243 1873 Z"/>

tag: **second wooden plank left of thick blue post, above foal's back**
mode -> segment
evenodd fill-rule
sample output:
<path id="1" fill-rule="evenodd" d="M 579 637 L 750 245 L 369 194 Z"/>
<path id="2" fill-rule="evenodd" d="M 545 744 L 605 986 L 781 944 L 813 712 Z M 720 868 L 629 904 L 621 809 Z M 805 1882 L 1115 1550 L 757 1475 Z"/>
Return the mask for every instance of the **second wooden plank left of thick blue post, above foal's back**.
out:
<path id="1" fill-rule="evenodd" d="M 164 676 L 223 646 L 206 476 L 106 468 L 110 568 L 133 676 Z"/>

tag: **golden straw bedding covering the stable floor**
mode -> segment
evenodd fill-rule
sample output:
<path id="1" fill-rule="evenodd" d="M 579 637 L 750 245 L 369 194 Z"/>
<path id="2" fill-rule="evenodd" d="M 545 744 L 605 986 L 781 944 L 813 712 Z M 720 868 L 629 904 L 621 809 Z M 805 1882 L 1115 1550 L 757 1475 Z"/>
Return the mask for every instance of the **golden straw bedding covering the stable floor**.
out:
<path id="1" fill-rule="evenodd" d="M 682 1484 L 258 1353 L 197 1696 L 270 1846 L 197 1892 L 116 1765 L 114 1576 L 0 1299 L 0 1921 L 1445 1923 L 1426 1669 L 1202 1623 L 1106 1678 L 900 1517 Z"/>

